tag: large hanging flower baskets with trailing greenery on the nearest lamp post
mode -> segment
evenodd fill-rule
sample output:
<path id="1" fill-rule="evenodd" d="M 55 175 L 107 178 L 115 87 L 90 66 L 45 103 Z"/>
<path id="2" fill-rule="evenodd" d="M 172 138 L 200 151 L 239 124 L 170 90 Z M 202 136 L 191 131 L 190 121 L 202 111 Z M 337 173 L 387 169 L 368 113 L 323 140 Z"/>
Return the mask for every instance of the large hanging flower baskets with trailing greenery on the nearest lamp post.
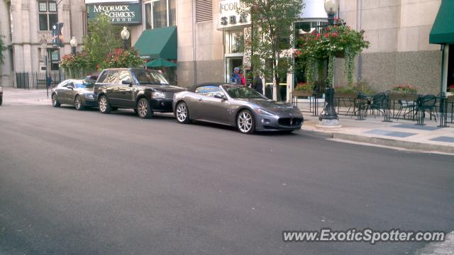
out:
<path id="1" fill-rule="evenodd" d="M 314 83 L 314 68 L 316 61 L 328 62 L 327 80 L 333 80 L 334 57 L 345 57 L 345 76 L 348 84 L 353 84 L 353 67 L 355 57 L 365 48 L 369 42 L 364 40 L 364 30 L 360 32 L 353 30 L 350 26 L 343 25 L 342 21 L 334 26 L 328 26 L 322 33 L 316 30 L 302 35 L 297 45 L 299 48 L 294 51 L 295 61 L 306 67 L 306 79 L 310 84 Z"/>

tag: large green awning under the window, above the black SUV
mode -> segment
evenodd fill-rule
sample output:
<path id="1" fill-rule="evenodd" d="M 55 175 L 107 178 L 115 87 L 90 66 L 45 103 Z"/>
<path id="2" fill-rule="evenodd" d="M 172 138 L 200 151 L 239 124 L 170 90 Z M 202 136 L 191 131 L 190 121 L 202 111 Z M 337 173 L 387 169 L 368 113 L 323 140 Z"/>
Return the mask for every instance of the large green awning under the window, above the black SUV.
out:
<path id="1" fill-rule="evenodd" d="M 143 31 L 135 42 L 140 57 L 177 60 L 177 27 L 155 28 Z"/>

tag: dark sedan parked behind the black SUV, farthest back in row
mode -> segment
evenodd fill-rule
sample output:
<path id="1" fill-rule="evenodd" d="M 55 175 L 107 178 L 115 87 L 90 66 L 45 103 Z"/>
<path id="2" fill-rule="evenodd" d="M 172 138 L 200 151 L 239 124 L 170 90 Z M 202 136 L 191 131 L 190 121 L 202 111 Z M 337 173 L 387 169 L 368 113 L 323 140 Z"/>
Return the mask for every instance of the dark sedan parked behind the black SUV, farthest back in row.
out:
<path id="1" fill-rule="evenodd" d="M 62 81 L 52 89 L 52 106 L 60 107 L 61 104 L 75 106 L 77 110 L 86 107 L 97 107 L 98 101 L 93 94 L 92 81 L 68 79 Z"/>

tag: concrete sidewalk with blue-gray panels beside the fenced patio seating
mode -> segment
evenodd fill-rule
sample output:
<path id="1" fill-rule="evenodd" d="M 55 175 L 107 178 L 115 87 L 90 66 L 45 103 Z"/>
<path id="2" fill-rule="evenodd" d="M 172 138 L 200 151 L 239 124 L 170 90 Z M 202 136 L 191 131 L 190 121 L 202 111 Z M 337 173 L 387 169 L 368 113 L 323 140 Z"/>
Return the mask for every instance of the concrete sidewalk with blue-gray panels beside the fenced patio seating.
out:
<path id="1" fill-rule="evenodd" d="M 318 128 L 318 116 L 304 113 L 305 122 L 302 132 L 322 135 L 333 139 L 364 142 L 374 145 L 414 149 L 425 152 L 444 152 L 454 154 L 454 124 L 448 123 L 449 128 L 438 128 L 437 118 L 426 118 L 424 124 L 415 125 L 416 121 L 395 120 L 391 123 L 382 122 L 383 116 L 368 115 L 365 120 L 356 120 L 356 117 L 339 115 L 341 128 L 328 130 Z M 450 121 L 450 116 L 448 116 Z"/>

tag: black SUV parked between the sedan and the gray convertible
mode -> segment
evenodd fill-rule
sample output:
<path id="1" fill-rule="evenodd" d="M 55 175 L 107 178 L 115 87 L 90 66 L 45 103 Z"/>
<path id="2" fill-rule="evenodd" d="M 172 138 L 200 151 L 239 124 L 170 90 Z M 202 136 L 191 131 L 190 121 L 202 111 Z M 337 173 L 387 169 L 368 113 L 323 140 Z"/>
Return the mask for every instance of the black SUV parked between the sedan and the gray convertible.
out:
<path id="1" fill-rule="evenodd" d="M 101 113 L 133 108 L 140 118 L 151 118 L 153 112 L 172 113 L 173 94 L 184 90 L 148 69 L 104 69 L 94 84 Z"/>

